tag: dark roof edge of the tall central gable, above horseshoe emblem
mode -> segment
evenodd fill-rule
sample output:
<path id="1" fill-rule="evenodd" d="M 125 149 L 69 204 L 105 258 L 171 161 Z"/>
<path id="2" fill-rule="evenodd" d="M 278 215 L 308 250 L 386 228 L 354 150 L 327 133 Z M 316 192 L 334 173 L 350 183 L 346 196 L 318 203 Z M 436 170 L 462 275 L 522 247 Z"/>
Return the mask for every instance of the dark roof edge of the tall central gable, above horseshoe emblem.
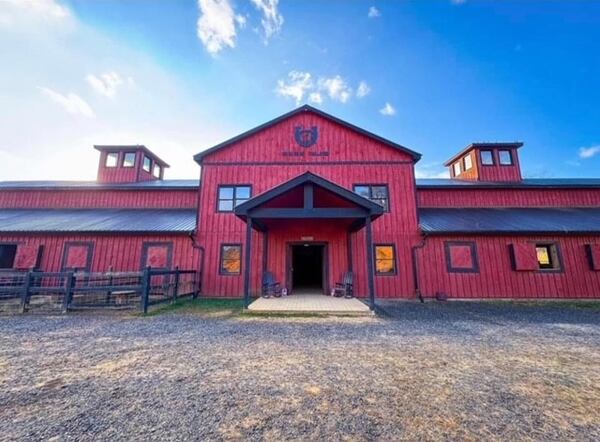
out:
<path id="1" fill-rule="evenodd" d="M 274 118 L 271 121 L 268 121 L 268 122 L 266 122 L 264 124 L 261 124 L 260 126 L 256 126 L 254 129 L 250 129 L 249 131 L 246 131 L 246 132 L 244 132 L 244 133 L 242 133 L 240 135 L 237 135 L 237 136 L 235 136 L 233 138 L 230 138 L 229 140 L 223 141 L 222 143 L 219 143 L 216 146 L 213 146 L 213 147 L 211 147 L 209 149 L 206 149 L 206 150 L 203 150 L 202 152 L 197 153 L 196 155 L 194 155 L 194 160 L 198 164 L 202 164 L 202 160 L 206 156 L 208 156 L 208 155 L 210 155 L 210 154 L 212 154 L 212 153 L 214 153 L 214 152 L 216 152 L 216 151 L 218 151 L 220 149 L 223 149 L 223 148 L 225 148 L 227 146 L 230 146 L 230 145 L 232 145 L 234 143 L 237 143 L 238 141 L 241 141 L 244 138 L 247 138 L 247 137 L 249 137 L 251 135 L 254 135 L 257 132 L 260 132 L 262 130 L 268 129 L 271 126 L 274 126 L 277 123 L 280 123 L 281 121 L 287 120 L 288 118 L 291 118 L 294 115 L 298 115 L 298 114 L 301 114 L 303 112 L 312 112 L 313 114 L 319 115 L 320 117 L 323 117 L 323 118 L 325 118 L 327 120 L 333 121 L 334 123 L 340 124 L 340 125 L 348 128 L 348 129 L 350 129 L 350 130 L 358 132 L 361 135 L 364 135 L 366 137 L 372 138 L 372 139 L 374 139 L 376 141 L 379 141 L 380 143 L 383 143 L 383 144 L 385 144 L 385 145 L 387 145 L 389 147 L 392 147 L 392 148 L 397 149 L 397 150 L 399 150 L 401 152 L 404 152 L 404 153 L 410 155 L 415 162 L 417 162 L 417 161 L 419 161 L 421 159 L 421 154 L 418 153 L 418 152 L 415 152 L 414 150 L 411 150 L 411 149 L 409 149 L 407 147 L 404 147 L 404 146 L 402 146 L 402 145 L 400 145 L 398 143 L 394 143 L 393 141 L 390 141 L 390 140 L 388 140 L 386 138 L 380 137 L 379 135 L 375 135 L 372 132 L 369 132 L 369 131 L 367 131 L 365 129 L 362 129 L 362 128 L 358 127 L 358 126 L 355 126 L 355 125 L 353 125 L 351 123 L 348 123 L 347 121 L 341 120 L 341 119 L 339 119 L 337 117 L 334 117 L 333 115 L 330 115 L 330 114 L 328 114 L 326 112 L 323 112 L 322 110 L 316 109 L 316 108 L 314 108 L 314 107 L 312 107 L 312 106 L 310 106 L 308 104 L 305 104 L 303 106 L 300 106 L 297 109 L 294 109 L 291 112 L 285 113 L 285 114 L 283 114 L 283 115 L 281 115 L 281 116 L 279 116 L 277 118 Z"/>

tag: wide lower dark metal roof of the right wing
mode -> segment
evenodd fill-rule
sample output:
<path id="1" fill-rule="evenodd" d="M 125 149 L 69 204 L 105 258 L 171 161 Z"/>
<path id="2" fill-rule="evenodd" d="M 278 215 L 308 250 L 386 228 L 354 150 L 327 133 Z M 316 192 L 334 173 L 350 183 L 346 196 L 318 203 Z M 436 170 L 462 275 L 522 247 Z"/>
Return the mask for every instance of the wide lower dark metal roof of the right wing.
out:
<path id="1" fill-rule="evenodd" d="M 600 208 L 419 209 L 421 230 L 442 233 L 600 233 Z"/>

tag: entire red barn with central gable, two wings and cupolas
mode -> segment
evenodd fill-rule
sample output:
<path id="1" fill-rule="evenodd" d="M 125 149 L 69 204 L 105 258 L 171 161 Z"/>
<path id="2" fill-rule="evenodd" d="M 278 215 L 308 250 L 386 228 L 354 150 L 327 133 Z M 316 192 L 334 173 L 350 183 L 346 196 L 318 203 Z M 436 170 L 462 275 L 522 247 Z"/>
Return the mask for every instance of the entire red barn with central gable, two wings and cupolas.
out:
<path id="1" fill-rule="evenodd" d="M 197 154 L 165 180 L 144 146 L 96 146 L 93 182 L 0 183 L 0 268 L 185 267 L 207 296 L 265 272 L 360 297 L 600 297 L 600 180 L 524 179 L 522 143 L 474 143 L 415 179 L 420 155 L 310 106 Z"/>

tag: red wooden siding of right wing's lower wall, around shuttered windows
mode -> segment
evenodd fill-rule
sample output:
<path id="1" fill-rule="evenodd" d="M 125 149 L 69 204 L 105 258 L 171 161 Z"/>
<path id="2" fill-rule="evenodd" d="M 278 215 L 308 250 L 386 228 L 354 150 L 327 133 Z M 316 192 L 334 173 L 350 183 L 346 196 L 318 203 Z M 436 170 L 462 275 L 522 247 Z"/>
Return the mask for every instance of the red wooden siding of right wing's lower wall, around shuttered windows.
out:
<path id="1" fill-rule="evenodd" d="M 478 273 L 446 269 L 444 241 L 475 241 Z M 515 271 L 510 246 L 524 242 L 555 242 L 561 271 Z M 446 293 L 450 298 L 592 298 L 600 293 L 600 275 L 590 269 L 586 245 L 597 237 L 430 237 L 418 252 L 424 296 Z M 535 255 L 534 255 L 535 256 Z"/>

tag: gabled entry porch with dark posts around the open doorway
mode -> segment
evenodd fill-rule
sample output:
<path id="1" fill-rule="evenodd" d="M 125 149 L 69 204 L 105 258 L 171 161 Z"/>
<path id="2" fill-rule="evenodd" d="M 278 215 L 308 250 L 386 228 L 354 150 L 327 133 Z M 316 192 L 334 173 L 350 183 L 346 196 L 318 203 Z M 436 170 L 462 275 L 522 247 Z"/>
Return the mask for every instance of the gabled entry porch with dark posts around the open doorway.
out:
<path id="1" fill-rule="evenodd" d="M 262 266 L 262 274 L 272 272 L 292 296 L 328 294 L 343 273 L 353 272 L 367 283 L 362 296 L 368 297 L 369 307 L 374 309 L 371 223 L 382 213 L 380 205 L 310 172 L 237 206 L 235 214 L 246 222 L 246 308 L 252 292 L 252 268 L 258 265 Z M 352 240 L 363 228 L 364 257 L 361 262 L 354 262 Z M 260 264 L 250 259 L 252 230 L 260 232 L 262 239 Z"/>

